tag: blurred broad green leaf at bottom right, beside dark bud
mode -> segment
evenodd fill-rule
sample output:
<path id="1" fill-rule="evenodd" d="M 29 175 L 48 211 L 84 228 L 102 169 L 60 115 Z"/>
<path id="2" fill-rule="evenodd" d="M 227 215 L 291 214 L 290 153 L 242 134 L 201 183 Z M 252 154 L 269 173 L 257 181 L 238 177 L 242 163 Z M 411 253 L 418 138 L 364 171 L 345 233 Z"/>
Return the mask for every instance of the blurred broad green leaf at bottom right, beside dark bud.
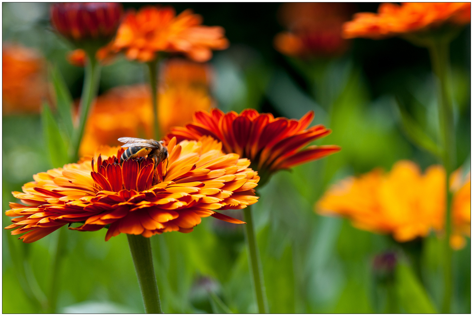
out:
<path id="1" fill-rule="evenodd" d="M 407 264 L 399 263 L 395 276 L 399 303 L 407 313 L 437 313 L 424 287 Z"/>

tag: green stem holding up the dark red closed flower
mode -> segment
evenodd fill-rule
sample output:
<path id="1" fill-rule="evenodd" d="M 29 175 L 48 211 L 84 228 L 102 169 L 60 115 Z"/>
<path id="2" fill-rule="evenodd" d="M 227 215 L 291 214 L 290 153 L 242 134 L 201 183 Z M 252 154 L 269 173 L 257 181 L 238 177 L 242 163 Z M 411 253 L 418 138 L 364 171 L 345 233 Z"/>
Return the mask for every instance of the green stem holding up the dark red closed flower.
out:
<path id="1" fill-rule="evenodd" d="M 96 98 L 98 92 L 98 85 L 100 83 L 100 63 L 97 62 L 94 53 L 88 53 L 86 69 L 84 73 L 84 85 L 82 87 L 82 95 L 79 103 L 79 125 L 74 130 L 74 136 L 72 139 L 72 150 L 74 151 L 71 156 L 71 161 L 76 162 L 79 160 L 79 147 L 84 135 L 84 129 L 86 126 L 88 114 L 90 111 L 90 105 Z"/>

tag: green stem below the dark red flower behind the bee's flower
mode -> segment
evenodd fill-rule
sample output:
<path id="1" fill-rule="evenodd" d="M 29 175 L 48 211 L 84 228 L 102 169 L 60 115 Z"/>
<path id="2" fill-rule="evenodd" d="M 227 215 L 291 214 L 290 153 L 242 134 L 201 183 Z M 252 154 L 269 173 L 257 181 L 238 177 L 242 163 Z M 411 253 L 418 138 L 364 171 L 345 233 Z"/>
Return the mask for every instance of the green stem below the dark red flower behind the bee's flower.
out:
<path id="1" fill-rule="evenodd" d="M 267 313 L 267 303 L 264 290 L 263 270 L 261 268 L 258 244 L 254 234 L 253 215 L 251 214 L 251 206 L 243 209 L 245 216 L 245 240 L 248 247 L 249 264 L 251 274 L 253 276 L 253 289 L 258 303 L 258 312 L 260 314 Z"/>

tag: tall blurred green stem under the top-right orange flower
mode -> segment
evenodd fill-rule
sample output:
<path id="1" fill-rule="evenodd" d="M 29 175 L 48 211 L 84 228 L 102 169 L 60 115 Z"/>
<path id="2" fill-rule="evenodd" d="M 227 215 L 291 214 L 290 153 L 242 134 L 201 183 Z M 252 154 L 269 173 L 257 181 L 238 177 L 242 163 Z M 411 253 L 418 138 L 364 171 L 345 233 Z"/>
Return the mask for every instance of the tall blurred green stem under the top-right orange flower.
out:
<path id="1" fill-rule="evenodd" d="M 445 240 L 444 240 L 444 298 L 442 313 L 450 312 L 450 302 L 452 298 L 452 249 L 449 241 L 452 233 L 451 218 L 451 194 L 449 193 L 449 177 L 456 165 L 455 146 L 455 125 L 453 120 L 453 104 L 448 82 L 449 75 L 449 44 L 448 40 L 434 40 L 429 45 L 432 68 L 438 78 L 438 119 L 440 127 L 440 142 L 442 145 L 442 160 L 447 172 L 447 211 L 445 220 Z"/>

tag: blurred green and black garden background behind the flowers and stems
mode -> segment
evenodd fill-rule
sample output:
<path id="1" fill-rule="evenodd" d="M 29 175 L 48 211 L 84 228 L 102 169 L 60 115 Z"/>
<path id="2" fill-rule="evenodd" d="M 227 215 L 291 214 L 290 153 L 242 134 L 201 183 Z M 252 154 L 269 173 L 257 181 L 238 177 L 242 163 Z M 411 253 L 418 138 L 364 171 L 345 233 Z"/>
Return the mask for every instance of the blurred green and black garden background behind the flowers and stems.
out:
<path id="1" fill-rule="evenodd" d="M 167 3 L 163 3 L 167 4 Z M 124 3 L 139 8 L 141 3 Z M 383 312 L 388 295 L 373 258 L 394 250 L 384 235 L 358 230 L 347 220 L 314 213 L 314 203 L 330 184 L 374 167 L 390 170 L 400 159 L 425 169 L 439 163 L 412 145 L 396 111 L 402 100 L 425 130 L 437 122 L 435 81 L 428 52 L 399 38 L 353 40 L 347 53 L 325 60 L 319 83 L 310 84 L 293 60 L 273 47 L 283 30 L 279 3 L 172 3 L 179 13 L 192 8 L 205 25 L 225 28 L 231 45 L 214 53 L 211 90 L 223 111 L 256 108 L 275 117 L 300 118 L 315 111 L 313 124 L 333 133 L 316 144 L 338 144 L 342 151 L 320 161 L 279 172 L 259 190 L 254 206 L 264 280 L 272 313 Z M 375 12 L 378 3 L 356 3 L 355 11 Z M 2 40 L 36 48 L 60 69 L 74 99 L 79 98 L 83 69 L 70 65 L 70 51 L 51 31 L 47 3 L 2 3 Z M 470 160 L 471 28 L 451 45 L 458 161 Z M 99 94 L 120 85 L 146 81 L 144 68 L 124 58 L 105 66 Z M 39 114 L 2 117 L 2 209 L 11 191 L 50 169 Z M 228 215 L 239 217 L 239 210 Z M 10 219 L 2 217 L 3 226 Z M 47 296 L 54 240 L 59 231 L 34 244 L 23 244 L 3 231 L 3 313 L 35 313 Z M 65 231 L 56 312 L 142 313 L 138 282 L 125 235 L 104 242 L 105 230 Z M 192 234 L 177 232 L 151 238 L 161 301 L 166 313 L 254 313 L 243 230 L 205 218 Z M 420 249 L 420 241 L 409 246 Z M 439 309 L 442 300 L 442 248 L 432 233 L 420 253 L 420 282 Z M 60 250 L 61 251 L 61 250 Z M 409 261 L 407 261 L 409 262 Z M 452 312 L 470 313 L 470 240 L 454 252 Z M 21 269 L 20 269 L 21 267 Z M 25 267 L 24 269 L 22 267 Z M 407 272 L 406 272 L 407 273 Z M 27 285 L 27 286 L 26 286 Z M 403 291 L 405 284 L 397 285 Z M 214 293 L 217 298 L 209 293 Z M 402 304 L 401 304 L 402 305 Z M 409 312 L 408 306 L 401 311 Z"/>

